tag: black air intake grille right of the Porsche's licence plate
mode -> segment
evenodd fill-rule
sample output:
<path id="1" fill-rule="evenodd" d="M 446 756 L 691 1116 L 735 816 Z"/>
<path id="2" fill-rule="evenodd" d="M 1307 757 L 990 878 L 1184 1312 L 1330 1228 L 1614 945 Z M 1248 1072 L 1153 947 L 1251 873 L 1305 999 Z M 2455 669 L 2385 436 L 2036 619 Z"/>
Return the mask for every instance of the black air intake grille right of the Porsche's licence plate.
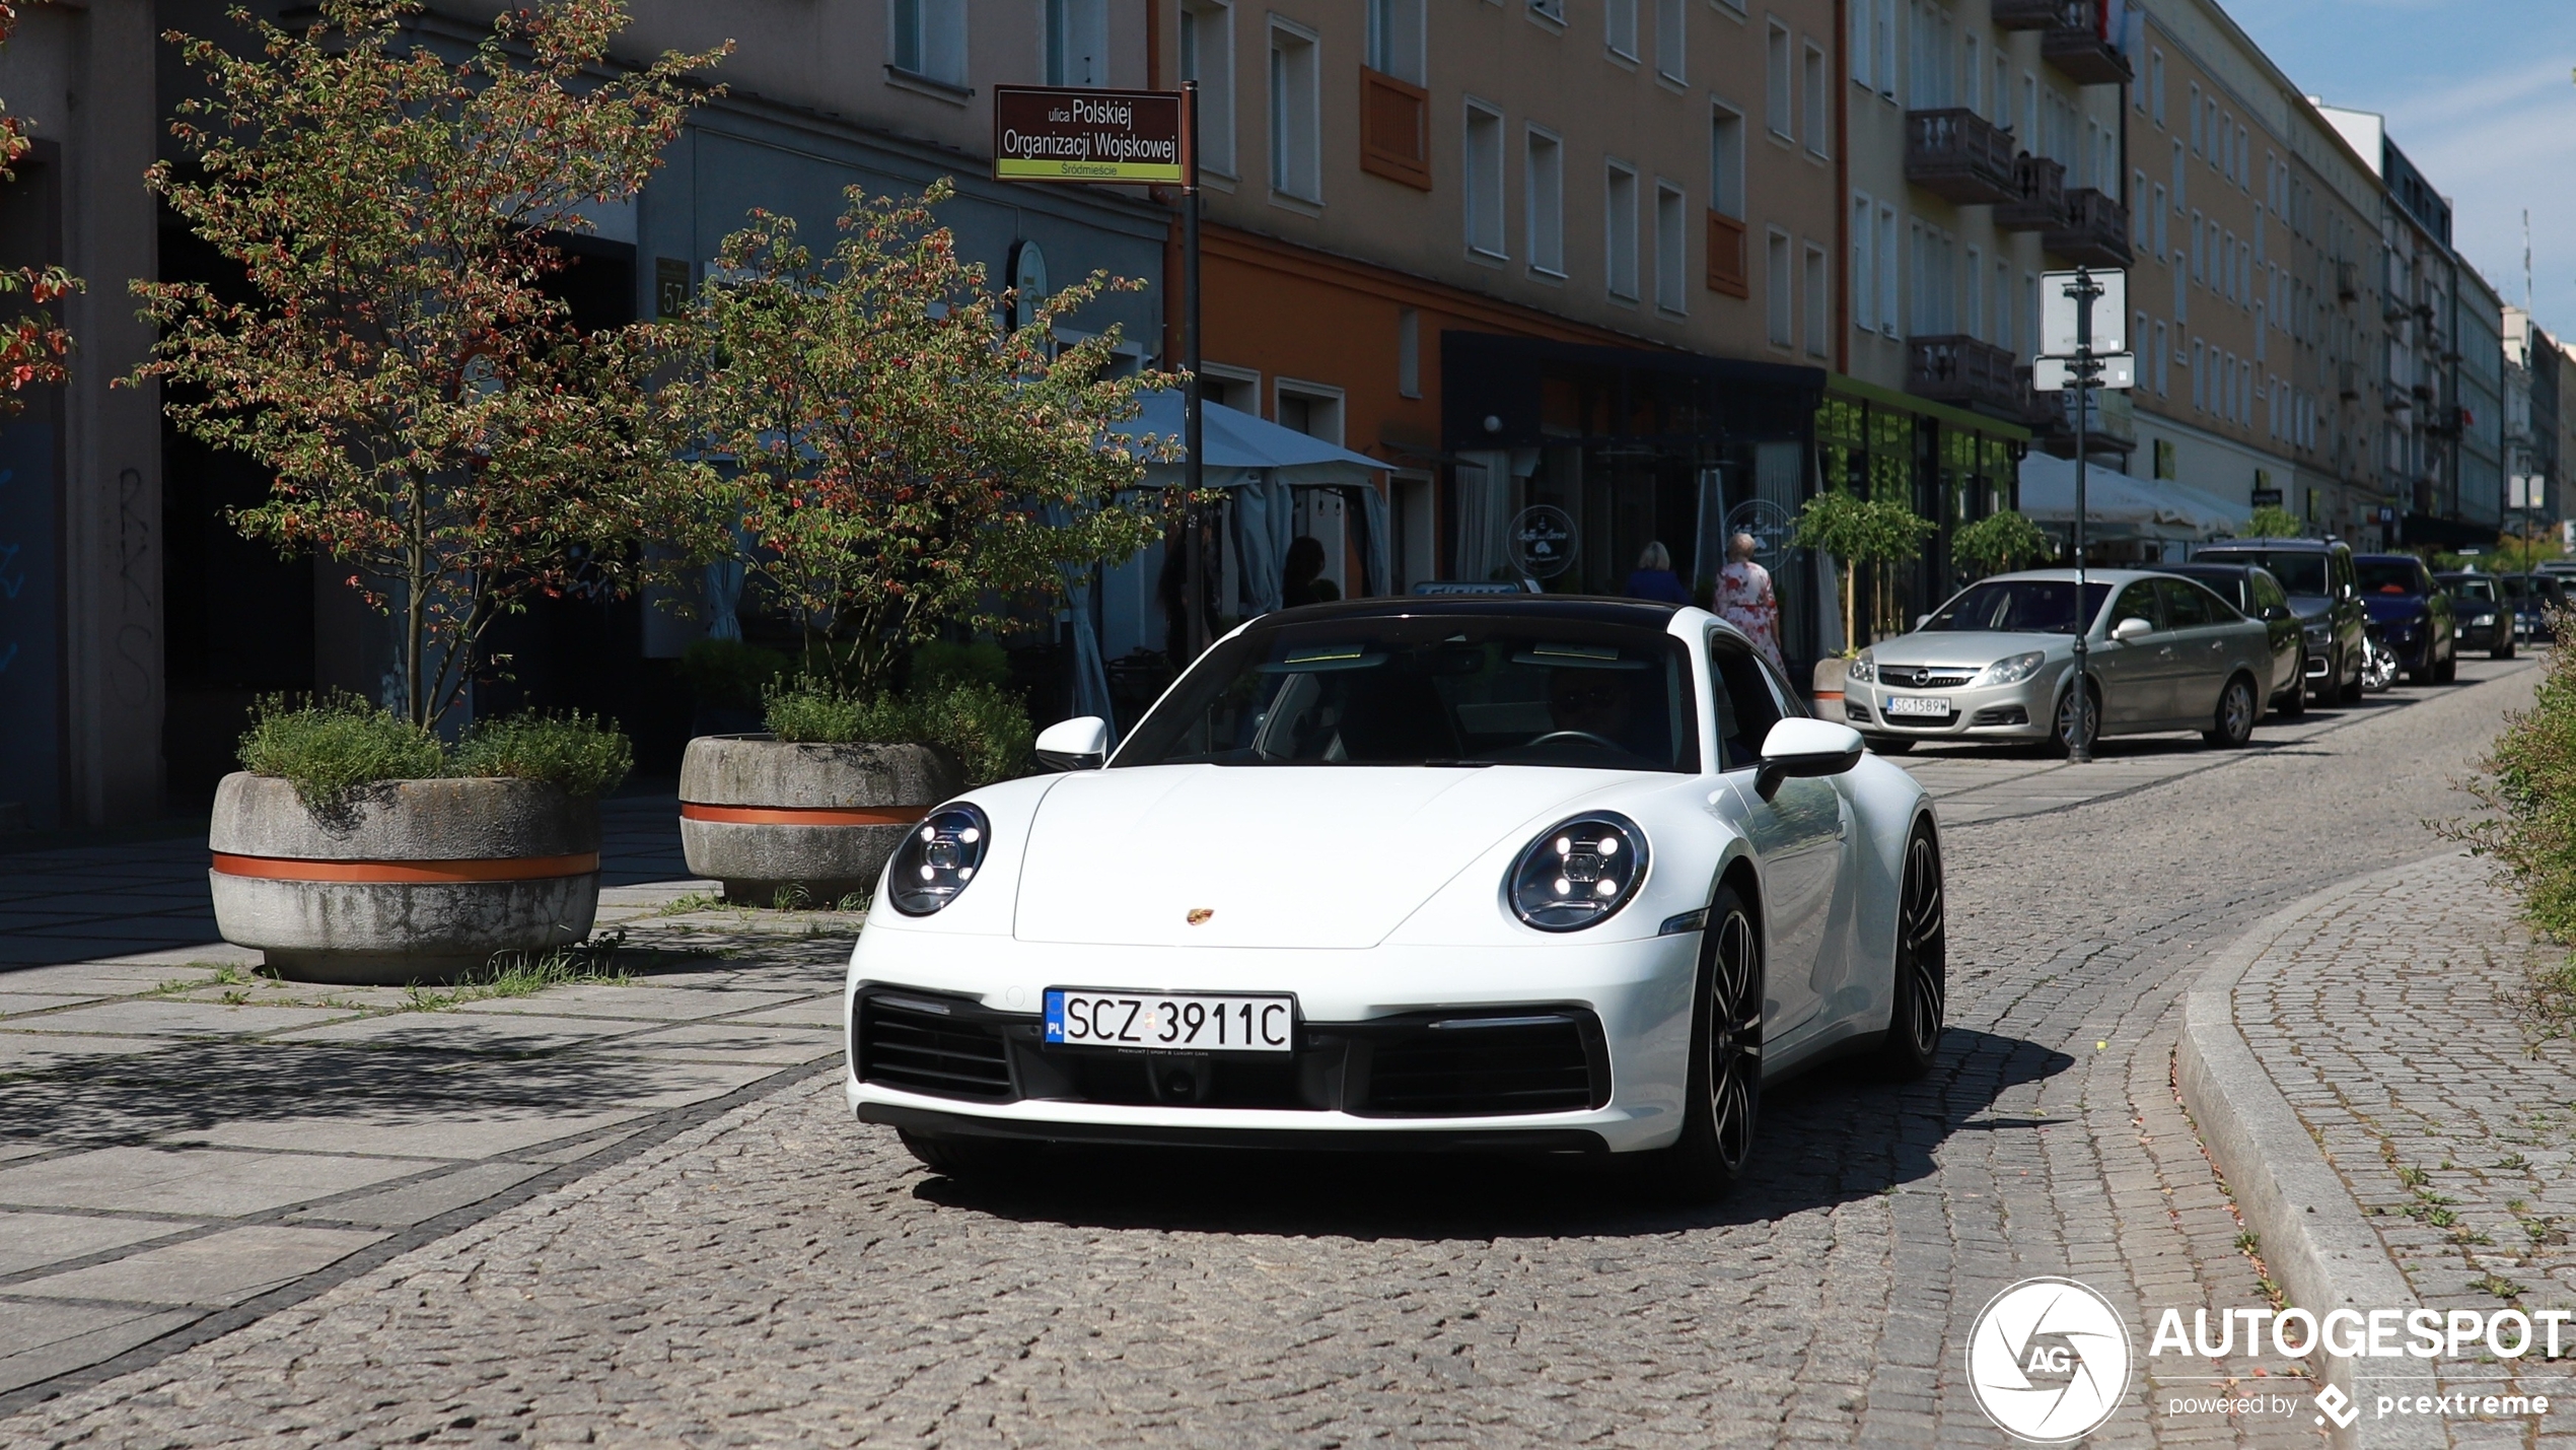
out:
<path id="1" fill-rule="evenodd" d="M 1489 1118 L 1607 1102 L 1607 1053 L 1589 1015 L 1450 1017 L 1370 1043 L 1352 1113 Z"/>

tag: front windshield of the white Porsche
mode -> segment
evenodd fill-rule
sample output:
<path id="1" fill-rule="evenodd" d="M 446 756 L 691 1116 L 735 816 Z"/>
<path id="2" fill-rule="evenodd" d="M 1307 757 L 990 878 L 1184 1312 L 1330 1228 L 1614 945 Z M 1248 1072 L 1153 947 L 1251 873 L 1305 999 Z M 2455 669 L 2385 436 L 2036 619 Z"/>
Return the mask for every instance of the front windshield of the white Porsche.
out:
<path id="1" fill-rule="evenodd" d="M 1113 765 L 1698 770 L 1690 659 L 1638 626 L 1337 618 L 1218 644 Z"/>

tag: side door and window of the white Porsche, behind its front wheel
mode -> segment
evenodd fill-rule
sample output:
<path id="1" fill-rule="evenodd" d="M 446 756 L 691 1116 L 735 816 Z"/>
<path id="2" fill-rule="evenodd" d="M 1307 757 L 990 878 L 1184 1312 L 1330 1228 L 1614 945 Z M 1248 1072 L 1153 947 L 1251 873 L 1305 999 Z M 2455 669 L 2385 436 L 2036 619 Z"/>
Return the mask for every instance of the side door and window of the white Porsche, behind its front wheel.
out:
<path id="1" fill-rule="evenodd" d="M 1850 809 L 1834 780 L 1783 780 L 1765 801 L 1754 791 L 1762 737 L 1780 721 L 1752 652 L 1728 636 L 1710 636 L 1708 685 L 1716 711 L 1718 755 L 1734 793 L 1736 819 L 1754 845 L 1762 873 L 1762 922 L 1770 953 L 1762 974 L 1762 1035 L 1772 1043 L 1806 1028 L 1834 989 L 1839 953 L 1826 950 L 1834 891 L 1850 837 Z"/>

